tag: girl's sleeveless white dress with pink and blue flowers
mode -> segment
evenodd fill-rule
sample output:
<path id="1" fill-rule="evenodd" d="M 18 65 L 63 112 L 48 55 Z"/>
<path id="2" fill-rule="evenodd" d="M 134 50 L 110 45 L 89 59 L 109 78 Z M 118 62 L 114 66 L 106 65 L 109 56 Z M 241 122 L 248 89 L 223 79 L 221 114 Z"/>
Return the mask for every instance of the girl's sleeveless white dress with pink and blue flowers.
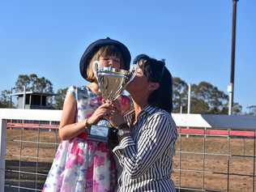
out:
<path id="1" fill-rule="evenodd" d="M 90 117 L 101 103 L 100 96 L 87 87 L 72 86 L 67 94 L 77 101 L 77 122 Z M 43 192 L 112 192 L 116 182 L 116 165 L 108 144 L 87 140 L 82 133 L 60 143 Z"/>

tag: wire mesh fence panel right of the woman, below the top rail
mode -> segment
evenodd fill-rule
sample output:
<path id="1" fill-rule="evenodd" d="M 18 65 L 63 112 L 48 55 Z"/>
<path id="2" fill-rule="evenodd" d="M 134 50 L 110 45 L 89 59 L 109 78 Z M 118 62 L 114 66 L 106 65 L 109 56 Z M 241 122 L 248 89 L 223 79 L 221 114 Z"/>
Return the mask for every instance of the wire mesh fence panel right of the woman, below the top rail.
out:
<path id="1" fill-rule="evenodd" d="M 173 169 L 178 191 L 255 190 L 255 130 L 178 130 Z"/>

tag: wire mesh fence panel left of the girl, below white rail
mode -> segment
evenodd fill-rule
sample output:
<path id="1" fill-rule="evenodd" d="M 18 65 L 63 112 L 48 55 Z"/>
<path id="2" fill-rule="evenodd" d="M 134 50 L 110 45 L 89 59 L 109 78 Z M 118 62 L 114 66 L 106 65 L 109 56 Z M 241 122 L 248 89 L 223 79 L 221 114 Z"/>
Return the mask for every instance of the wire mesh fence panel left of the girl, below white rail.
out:
<path id="1" fill-rule="evenodd" d="M 58 122 L 8 122 L 5 191 L 41 191 L 58 148 Z"/>

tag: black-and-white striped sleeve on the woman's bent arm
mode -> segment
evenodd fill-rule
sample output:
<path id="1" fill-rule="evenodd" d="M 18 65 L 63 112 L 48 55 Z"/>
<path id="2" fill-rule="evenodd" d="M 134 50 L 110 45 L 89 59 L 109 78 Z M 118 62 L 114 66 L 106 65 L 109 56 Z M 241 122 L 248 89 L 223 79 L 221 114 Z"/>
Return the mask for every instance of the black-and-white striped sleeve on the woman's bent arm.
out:
<path id="1" fill-rule="evenodd" d="M 164 113 L 154 114 L 143 125 L 138 143 L 127 136 L 113 149 L 131 178 L 141 176 L 161 154 L 175 141 L 177 131 L 172 117 Z"/>

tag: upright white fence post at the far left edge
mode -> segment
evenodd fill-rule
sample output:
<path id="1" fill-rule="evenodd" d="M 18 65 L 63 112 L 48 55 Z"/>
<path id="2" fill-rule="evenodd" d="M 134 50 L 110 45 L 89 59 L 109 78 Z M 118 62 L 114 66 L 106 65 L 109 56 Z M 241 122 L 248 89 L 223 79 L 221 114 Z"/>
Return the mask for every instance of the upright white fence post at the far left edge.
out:
<path id="1" fill-rule="evenodd" d="M 6 120 L 0 118 L 0 192 L 4 192 L 6 169 Z"/>

